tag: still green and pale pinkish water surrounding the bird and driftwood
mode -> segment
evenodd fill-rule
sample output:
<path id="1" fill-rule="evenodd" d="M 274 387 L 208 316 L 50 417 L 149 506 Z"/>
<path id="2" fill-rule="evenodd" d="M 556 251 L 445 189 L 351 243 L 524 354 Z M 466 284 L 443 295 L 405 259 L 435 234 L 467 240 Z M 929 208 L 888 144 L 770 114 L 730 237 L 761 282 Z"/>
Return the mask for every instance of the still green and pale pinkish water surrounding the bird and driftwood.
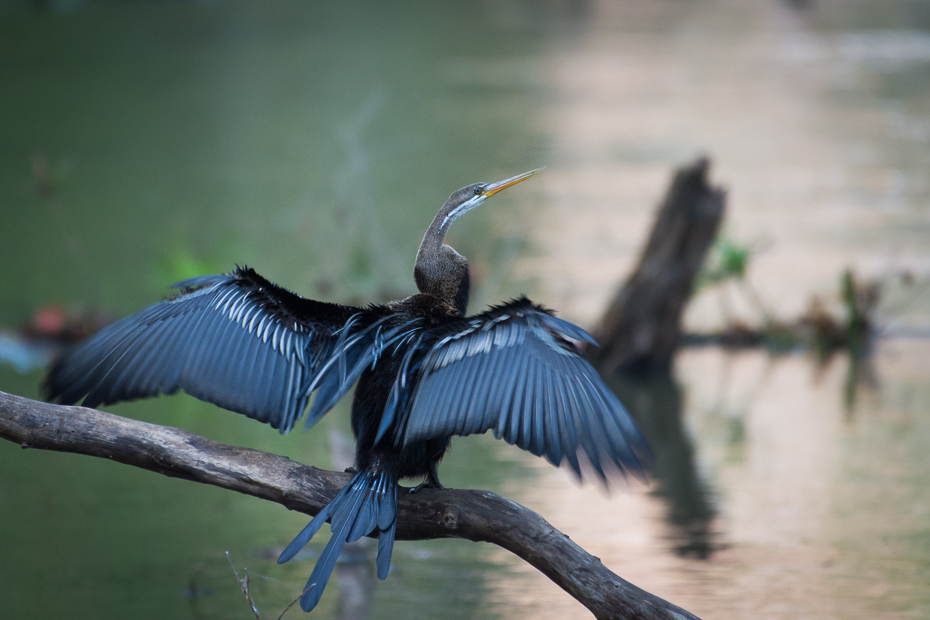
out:
<path id="1" fill-rule="evenodd" d="M 649 485 L 579 487 L 483 437 L 443 481 L 530 506 L 704 618 L 930 617 L 928 28 L 916 1 L 6 2 L 0 326 L 51 303 L 129 313 L 237 262 L 320 299 L 404 295 L 452 190 L 538 165 L 452 231 L 472 309 L 527 292 L 591 326 L 670 170 L 707 153 L 768 312 L 835 305 L 847 266 L 884 282 L 869 364 L 686 350 L 674 381 L 614 386 L 655 449 Z M 688 325 L 719 325 L 720 298 L 700 292 Z M 0 366 L 4 391 L 40 380 Z M 319 466 L 348 431 L 345 406 L 288 437 L 183 395 L 110 410 Z M 250 618 L 228 551 L 274 618 L 312 558 L 273 557 L 305 523 L 3 443 L 2 615 Z M 346 611 L 336 586 L 318 616 Z M 374 597 L 373 618 L 586 613 L 462 541 L 399 543 Z"/>

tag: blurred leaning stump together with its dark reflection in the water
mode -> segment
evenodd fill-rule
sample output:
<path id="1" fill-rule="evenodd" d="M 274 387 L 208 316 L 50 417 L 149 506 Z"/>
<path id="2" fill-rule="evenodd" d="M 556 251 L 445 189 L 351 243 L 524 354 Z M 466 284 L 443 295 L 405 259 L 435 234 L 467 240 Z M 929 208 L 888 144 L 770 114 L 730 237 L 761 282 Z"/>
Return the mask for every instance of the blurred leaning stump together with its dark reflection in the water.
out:
<path id="1" fill-rule="evenodd" d="M 620 398 L 653 450 L 653 492 L 667 506 L 673 551 L 707 559 L 717 548 L 715 510 L 698 475 L 671 377 L 681 319 L 723 220 L 725 193 L 710 186 L 710 162 L 677 170 L 633 275 L 607 308 L 588 359 Z"/>

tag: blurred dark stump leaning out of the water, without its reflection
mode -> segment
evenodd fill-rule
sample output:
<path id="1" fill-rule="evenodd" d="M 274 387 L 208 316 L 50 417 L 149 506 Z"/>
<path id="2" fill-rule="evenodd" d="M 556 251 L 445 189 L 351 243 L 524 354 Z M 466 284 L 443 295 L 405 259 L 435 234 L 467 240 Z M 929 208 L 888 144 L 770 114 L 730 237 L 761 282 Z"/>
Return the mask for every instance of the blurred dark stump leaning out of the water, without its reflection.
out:
<path id="1" fill-rule="evenodd" d="M 602 372 L 668 371 L 681 314 L 723 220 L 725 192 L 710 186 L 701 158 L 675 172 L 636 271 L 594 330 Z"/>

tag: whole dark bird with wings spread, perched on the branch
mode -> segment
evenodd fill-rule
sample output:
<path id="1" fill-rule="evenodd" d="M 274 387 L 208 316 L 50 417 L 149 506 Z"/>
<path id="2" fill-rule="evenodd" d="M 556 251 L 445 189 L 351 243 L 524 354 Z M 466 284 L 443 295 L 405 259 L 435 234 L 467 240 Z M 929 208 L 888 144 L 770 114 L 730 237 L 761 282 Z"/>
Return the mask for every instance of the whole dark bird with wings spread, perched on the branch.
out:
<path id="1" fill-rule="evenodd" d="M 527 299 L 465 316 L 465 258 L 443 245 L 449 226 L 486 198 L 537 171 L 452 194 L 417 253 L 419 293 L 354 308 L 299 297 L 239 268 L 176 284 L 180 293 L 66 352 L 49 397 L 84 405 L 179 388 L 286 433 L 316 396 L 313 425 L 358 382 L 352 404 L 356 474 L 281 554 L 291 559 L 322 527 L 333 532 L 301 597 L 320 599 L 343 545 L 378 536 L 378 576 L 394 544 L 397 482 L 426 477 L 453 435 L 495 437 L 605 479 L 638 471 L 643 440 L 617 398 L 580 356 L 581 328 Z M 581 457 L 581 459 L 579 458 Z"/>

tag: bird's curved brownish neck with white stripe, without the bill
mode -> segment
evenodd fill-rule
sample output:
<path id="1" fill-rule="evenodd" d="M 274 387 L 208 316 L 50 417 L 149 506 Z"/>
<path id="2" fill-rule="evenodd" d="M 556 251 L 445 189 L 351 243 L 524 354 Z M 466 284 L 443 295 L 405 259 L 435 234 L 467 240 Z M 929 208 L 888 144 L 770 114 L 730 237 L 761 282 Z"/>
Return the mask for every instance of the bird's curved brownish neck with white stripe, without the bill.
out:
<path id="1" fill-rule="evenodd" d="M 443 244 L 449 226 L 457 219 L 455 208 L 456 205 L 451 200 L 446 202 L 433 218 L 433 223 L 426 229 L 417 251 L 413 277 L 421 293 L 440 299 L 464 315 L 471 284 L 468 261 L 454 249 Z"/>

